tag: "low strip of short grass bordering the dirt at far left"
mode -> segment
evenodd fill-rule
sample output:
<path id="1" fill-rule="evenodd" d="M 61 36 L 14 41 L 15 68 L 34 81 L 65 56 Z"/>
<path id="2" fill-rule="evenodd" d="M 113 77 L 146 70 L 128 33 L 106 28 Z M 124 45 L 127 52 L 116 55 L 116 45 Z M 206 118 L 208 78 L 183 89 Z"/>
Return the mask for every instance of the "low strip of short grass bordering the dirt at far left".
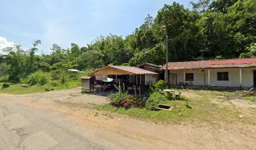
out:
<path id="1" fill-rule="evenodd" d="M 68 81 L 65 84 L 60 84 L 58 86 L 51 86 L 50 84 L 44 84 L 44 85 L 33 85 L 29 86 L 28 84 L 10 84 L 9 88 L 2 89 L 2 84 L 0 83 L 0 93 L 5 94 L 29 94 L 29 93 L 45 93 L 46 88 L 54 88 L 55 90 L 61 90 L 61 89 L 71 89 L 76 88 L 80 86 L 80 80 L 77 81 Z M 27 86 L 28 88 L 24 88 L 23 86 Z"/>

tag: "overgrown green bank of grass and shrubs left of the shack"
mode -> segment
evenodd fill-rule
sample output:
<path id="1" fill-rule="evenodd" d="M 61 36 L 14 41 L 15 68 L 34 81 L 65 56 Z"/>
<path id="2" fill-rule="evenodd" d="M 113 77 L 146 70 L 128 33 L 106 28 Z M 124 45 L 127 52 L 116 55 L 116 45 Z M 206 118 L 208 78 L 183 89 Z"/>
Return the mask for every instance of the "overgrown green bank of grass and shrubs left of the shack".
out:
<path id="1" fill-rule="evenodd" d="M 8 83 L 8 76 L 0 76 L 0 93 L 29 94 L 76 88 L 81 85 L 80 76 L 87 76 L 89 72 L 90 70 L 73 74 L 67 71 L 36 71 L 26 78 L 21 78 L 20 83 Z M 9 88 L 2 89 L 4 83 L 8 83 Z"/>

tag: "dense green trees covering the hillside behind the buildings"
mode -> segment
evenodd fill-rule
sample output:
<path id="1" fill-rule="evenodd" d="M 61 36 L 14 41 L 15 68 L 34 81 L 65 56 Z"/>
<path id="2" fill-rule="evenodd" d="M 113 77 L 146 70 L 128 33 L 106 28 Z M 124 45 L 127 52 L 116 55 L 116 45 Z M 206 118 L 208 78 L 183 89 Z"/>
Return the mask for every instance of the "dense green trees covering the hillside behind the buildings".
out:
<path id="1" fill-rule="evenodd" d="M 50 54 L 37 55 L 40 40 L 27 51 L 20 46 L 0 54 L 0 76 L 19 81 L 35 71 L 96 69 L 108 64 L 137 66 L 165 62 L 166 35 L 169 61 L 248 58 L 256 56 L 255 0 L 200 0 L 193 10 L 173 2 L 125 37 L 109 34 L 87 46 L 70 49 L 53 44 Z M 161 26 L 166 24 L 166 32 Z"/>

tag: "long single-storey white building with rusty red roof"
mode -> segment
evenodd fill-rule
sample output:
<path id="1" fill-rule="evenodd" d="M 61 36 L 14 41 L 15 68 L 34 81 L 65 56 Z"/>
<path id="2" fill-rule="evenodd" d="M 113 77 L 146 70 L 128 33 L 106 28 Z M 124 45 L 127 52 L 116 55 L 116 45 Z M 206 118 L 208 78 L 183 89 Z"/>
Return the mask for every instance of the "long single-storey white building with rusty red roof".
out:
<path id="1" fill-rule="evenodd" d="M 256 86 L 256 58 L 172 62 L 168 74 L 172 85 L 250 88 Z"/>

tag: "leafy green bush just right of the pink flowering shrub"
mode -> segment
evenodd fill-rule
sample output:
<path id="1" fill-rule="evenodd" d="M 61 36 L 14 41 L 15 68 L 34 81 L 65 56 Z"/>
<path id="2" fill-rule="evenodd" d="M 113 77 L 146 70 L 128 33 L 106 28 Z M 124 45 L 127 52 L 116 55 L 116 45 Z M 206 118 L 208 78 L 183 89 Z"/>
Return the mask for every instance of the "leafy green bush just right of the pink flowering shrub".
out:
<path id="1" fill-rule="evenodd" d="M 154 92 L 147 99 L 145 108 L 152 110 L 154 108 L 157 108 L 160 103 L 167 100 L 168 99 L 164 94 L 161 94 L 159 92 Z"/>

